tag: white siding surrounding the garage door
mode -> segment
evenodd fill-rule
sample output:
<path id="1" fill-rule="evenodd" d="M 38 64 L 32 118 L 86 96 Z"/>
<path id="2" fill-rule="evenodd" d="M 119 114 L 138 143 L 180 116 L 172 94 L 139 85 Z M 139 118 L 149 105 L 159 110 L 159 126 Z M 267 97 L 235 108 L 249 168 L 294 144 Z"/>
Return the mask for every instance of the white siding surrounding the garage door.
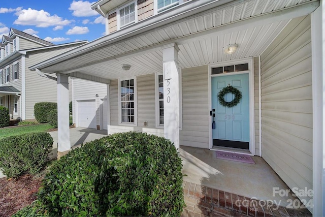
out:
<path id="1" fill-rule="evenodd" d="M 95 97 L 98 94 L 99 97 Z M 73 111 L 76 111 L 76 101 L 80 100 L 95 100 L 96 101 L 96 125 L 100 126 L 101 99 L 107 98 L 107 85 L 103 83 L 82 80 L 78 78 L 73 79 Z M 73 112 L 73 122 L 76 123 L 76 112 Z"/>

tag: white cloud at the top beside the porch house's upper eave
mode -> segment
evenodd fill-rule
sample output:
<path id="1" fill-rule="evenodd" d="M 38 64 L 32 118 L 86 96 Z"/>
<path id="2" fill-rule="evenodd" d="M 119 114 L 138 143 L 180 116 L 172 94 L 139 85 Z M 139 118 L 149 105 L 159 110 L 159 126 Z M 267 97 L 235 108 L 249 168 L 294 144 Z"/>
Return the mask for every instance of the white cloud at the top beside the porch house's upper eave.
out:
<path id="1" fill-rule="evenodd" d="M 71 4 L 70 4 L 70 8 L 69 10 L 70 11 L 73 11 L 72 12 L 72 15 L 73 16 L 76 16 L 76 17 L 90 17 L 90 16 L 96 16 L 98 15 L 98 13 L 95 11 L 95 10 L 92 10 L 91 9 L 91 5 L 94 4 L 95 2 L 88 2 L 88 1 L 73 1 Z"/>

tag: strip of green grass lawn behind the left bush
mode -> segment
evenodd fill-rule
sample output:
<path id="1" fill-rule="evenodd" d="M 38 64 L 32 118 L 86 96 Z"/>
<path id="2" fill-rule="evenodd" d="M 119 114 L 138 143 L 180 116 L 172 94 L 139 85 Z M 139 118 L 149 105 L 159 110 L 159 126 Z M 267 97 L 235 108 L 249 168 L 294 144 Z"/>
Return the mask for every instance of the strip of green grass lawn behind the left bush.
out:
<path id="1" fill-rule="evenodd" d="M 16 136 L 25 133 L 38 133 L 38 132 L 47 132 L 49 129 L 52 129 L 50 125 L 47 123 L 41 125 L 30 125 L 30 126 L 21 126 L 14 128 L 0 128 L 0 139 L 8 137 L 8 136 Z"/>

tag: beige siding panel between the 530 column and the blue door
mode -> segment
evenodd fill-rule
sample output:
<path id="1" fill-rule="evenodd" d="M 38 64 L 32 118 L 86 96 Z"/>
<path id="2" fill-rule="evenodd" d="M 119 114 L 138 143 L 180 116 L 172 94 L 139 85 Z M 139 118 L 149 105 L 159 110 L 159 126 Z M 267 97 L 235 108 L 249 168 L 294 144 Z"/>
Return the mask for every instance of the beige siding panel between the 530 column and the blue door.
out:
<path id="1" fill-rule="evenodd" d="M 180 145 L 209 148 L 208 66 L 182 69 Z"/>

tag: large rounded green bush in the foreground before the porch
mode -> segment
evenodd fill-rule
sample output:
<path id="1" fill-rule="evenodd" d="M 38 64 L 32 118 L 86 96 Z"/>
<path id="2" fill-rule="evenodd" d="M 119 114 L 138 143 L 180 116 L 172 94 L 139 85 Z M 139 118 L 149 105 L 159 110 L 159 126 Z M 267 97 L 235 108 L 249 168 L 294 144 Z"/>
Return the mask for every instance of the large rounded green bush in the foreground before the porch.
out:
<path id="1" fill-rule="evenodd" d="M 43 180 L 34 210 L 50 216 L 180 216 L 181 168 L 170 140 L 113 134 L 57 161 Z"/>

